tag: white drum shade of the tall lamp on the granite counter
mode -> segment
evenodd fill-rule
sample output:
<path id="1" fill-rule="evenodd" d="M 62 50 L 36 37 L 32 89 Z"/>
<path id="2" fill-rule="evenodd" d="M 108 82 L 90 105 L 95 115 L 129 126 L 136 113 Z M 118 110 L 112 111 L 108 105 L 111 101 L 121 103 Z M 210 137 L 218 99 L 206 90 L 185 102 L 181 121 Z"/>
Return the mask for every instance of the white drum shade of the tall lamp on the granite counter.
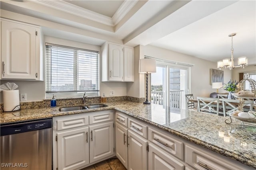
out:
<path id="1" fill-rule="evenodd" d="M 155 59 L 140 59 L 139 73 L 153 73 L 156 72 Z"/>

